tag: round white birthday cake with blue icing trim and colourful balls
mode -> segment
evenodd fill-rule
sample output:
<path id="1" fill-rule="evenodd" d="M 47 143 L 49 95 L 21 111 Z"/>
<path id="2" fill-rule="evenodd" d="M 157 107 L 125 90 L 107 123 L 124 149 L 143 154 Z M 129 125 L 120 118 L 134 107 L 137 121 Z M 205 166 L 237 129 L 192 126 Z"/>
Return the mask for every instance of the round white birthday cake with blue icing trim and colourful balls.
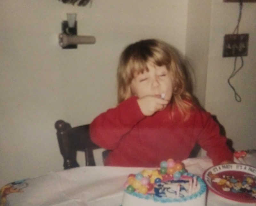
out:
<path id="1" fill-rule="evenodd" d="M 130 174 L 124 183 L 122 206 L 205 205 L 206 185 L 172 159 L 160 168 Z"/>

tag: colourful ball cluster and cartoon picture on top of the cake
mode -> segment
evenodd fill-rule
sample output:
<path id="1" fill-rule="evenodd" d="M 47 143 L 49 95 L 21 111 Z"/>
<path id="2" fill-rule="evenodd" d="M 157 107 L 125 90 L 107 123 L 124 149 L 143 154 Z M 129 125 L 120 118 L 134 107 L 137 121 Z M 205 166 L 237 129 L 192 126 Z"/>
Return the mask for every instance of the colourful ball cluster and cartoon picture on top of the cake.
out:
<path id="1" fill-rule="evenodd" d="M 173 159 L 162 161 L 160 168 L 155 170 L 145 169 L 128 175 L 124 188 L 129 194 L 137 192 L 159 198 L 182 198 L 198 190 L 197 177 L 189 174 L 181 162 Z"/>

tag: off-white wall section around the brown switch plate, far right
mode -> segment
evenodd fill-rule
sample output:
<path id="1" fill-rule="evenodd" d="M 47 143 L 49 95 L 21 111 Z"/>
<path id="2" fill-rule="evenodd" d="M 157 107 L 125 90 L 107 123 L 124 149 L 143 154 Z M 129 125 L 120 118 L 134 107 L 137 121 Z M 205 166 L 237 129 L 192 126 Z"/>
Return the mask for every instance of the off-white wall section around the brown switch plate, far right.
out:
<path id="1" fill-rule="evenodd" d="M 238 18 L 238 3 L 212 0 L 209 61 L 205 108 L 215 114 L 232 139 L 235 149 L 256 148 L 256 3 L 244 3 L 239 33 L 249 33 L 248 56 L 244 67 L 231 79 L 242 98 L 235 101 L 227 80 L 234 68 L 234 57 L 222 57 L 223 38 L 232 34 Z M 237 68 L 241 65 L 237 59 Z"/>

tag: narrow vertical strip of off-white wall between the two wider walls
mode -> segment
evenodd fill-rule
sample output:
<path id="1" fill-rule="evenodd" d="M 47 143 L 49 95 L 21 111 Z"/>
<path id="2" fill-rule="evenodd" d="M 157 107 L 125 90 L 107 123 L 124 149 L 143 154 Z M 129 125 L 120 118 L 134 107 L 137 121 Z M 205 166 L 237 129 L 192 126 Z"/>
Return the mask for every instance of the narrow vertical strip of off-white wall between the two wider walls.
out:
<path id="1" fill-rule="evenodd" d="M 211 1 L 188 1 L 186 56 L 190 63 L 194 95 L 204 106 L 209 55 Z"/>

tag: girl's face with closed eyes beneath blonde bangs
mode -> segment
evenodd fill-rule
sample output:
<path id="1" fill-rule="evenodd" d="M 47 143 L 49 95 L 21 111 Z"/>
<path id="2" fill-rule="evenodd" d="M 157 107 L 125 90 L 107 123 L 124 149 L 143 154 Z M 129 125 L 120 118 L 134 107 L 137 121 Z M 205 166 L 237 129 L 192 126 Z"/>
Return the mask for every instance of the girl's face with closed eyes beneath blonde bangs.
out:
<path id="1" fill-rule="evenodd" d="M 147 63 L 148 71 L 135 74 L 131 82 L 131 92 L 139 98 L 144 96 L 156 96 L 171 100 L 172 97 L 172 76 L 166 66 L 157 66 L 151 62 Z"/>

